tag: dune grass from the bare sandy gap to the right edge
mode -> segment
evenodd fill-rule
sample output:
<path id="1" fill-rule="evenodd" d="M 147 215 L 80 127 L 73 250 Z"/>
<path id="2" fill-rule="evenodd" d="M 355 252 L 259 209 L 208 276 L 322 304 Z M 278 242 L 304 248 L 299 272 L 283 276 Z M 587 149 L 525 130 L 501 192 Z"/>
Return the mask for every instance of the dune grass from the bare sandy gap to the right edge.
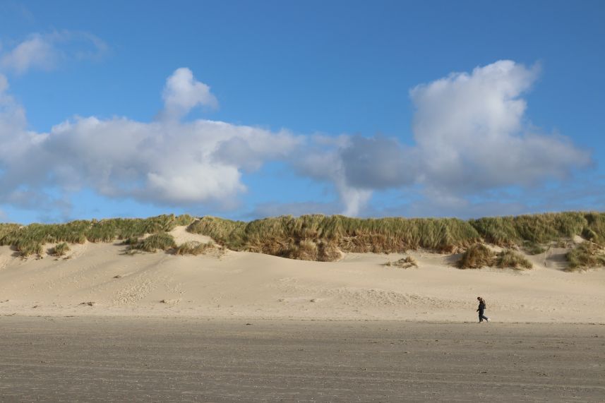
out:
<path id="1" fill-rule="evenodd" d="M 243 222 L 202 217 L 188 231 L 210 236 L 234 251 L 304 260 L 334 260 L 340 256 L 339 250 L 402 253 L 426 248 L 451 253 L 479 241 L 507 248 L 522 246 L 528 253 L 538 254 L 549 243 L 562 243 L 575 235 L 605 243 L 605 213 L 559 212 L 469 221 L 303 215 Z"/>

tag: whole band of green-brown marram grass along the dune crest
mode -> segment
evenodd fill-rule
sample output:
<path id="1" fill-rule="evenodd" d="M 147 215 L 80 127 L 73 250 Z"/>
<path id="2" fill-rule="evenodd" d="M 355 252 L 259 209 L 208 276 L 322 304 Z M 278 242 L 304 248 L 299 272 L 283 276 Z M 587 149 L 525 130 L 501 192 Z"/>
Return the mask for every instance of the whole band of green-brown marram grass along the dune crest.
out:
<path id="1" fill-rule="evenodd" d="M 548 246 L 568 243 L 574 236 L 605 246 L 605 213 L 602 212 L 558 212 L 467 221 L 456 218 L 360 219 L 342 215 L 303 215 L 243 222 L 209 216 L 196 219 L 190 215 L 160 215 L 146 219 L 78 220 L 66 224 L 0 224 L 0 245 L 12 246 L 23 256 L 41 254 L 47 243 L 85 241 L 122 240 L 133 251 L 145 250 L 152 247 L 150 241 L 141 241 L 143 235 L 166 233 L 179 225 L 188 225 L 188 231 L 210 236 L 234 251 L 318 261 L 337 260 L 341 252 L 405 253 L 424 248 L 453 253 L 467 251 L 481 242 L 543 253 Z M 172 246 L 173 243 L 169 245 L 177 248 Z M 196 246 L 184 246 L 182 253 L 194 248 Z M 513 262 L 513 267 L 527 266 L 515 259 L 509 254 L 501 260 Z M 576 261 L 579 260 L 574 260 L 572 255 L 570 267 L 601 265 L 599 259 L 578 265 Z"/>

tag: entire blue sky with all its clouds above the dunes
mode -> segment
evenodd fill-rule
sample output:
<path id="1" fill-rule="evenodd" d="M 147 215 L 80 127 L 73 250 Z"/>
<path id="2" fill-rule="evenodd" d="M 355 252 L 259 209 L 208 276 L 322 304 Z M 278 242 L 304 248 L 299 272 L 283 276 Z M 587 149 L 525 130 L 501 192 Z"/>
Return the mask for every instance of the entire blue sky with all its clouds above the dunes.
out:
<path id="1" fill-rule="evenodd" d="M 605 210 L 604 1 L 0 0 L 0 222 Z"/>

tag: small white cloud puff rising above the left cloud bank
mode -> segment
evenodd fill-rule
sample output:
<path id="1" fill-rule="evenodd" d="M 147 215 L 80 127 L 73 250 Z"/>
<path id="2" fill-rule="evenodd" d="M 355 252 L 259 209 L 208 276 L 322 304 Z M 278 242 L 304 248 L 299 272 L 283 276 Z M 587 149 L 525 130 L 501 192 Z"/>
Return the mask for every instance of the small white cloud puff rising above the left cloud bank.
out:
<path id="1" fill-rule="evenodd" d="M 193 78 L 188 68 L 177 68 L 166 80 L 162 93 L 164 111 L 162 118 L 180 119 L 198 105 L 217 108 L 218 101 L 210 87 Z"/>

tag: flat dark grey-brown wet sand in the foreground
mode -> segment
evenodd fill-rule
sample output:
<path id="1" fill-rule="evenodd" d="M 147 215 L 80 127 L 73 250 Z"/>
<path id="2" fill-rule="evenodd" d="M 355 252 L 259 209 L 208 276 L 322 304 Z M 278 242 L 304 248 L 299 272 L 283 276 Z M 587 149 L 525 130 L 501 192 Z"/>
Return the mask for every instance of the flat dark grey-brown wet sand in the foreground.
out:
<path id="1" fill-rule="evenodd" d="M 3 316 L 0 351 L 1 402 L 605 399 L 604 325 Z"/>

